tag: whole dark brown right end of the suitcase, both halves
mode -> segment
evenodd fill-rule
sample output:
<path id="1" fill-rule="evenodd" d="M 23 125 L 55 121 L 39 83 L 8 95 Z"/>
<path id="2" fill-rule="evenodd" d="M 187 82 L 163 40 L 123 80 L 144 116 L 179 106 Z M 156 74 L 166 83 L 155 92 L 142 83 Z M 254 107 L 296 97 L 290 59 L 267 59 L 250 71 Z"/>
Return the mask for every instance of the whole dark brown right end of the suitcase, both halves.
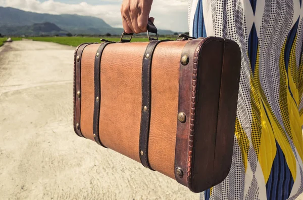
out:
<path id="1" fill-rule="evenodd" d="M 198 72 L 187 186 L 201 192 L 222 182 L 230 170 L 241 52 L 231 40 L 209 37 L 194 56 Z"/>

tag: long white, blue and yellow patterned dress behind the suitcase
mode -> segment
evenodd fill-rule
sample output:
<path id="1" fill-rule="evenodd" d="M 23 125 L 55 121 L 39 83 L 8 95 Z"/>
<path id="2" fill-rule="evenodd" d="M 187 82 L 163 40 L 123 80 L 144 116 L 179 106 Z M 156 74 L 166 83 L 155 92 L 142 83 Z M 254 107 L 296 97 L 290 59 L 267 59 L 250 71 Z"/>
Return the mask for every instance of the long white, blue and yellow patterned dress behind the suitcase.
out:
<path id="1" fill-rule="evenodd" d="M 242 52 L 235 143 L 227 178 L 201 199 L 295 199 L 303 191 L 302 0 L 189 0 L 194 37 Z"/>

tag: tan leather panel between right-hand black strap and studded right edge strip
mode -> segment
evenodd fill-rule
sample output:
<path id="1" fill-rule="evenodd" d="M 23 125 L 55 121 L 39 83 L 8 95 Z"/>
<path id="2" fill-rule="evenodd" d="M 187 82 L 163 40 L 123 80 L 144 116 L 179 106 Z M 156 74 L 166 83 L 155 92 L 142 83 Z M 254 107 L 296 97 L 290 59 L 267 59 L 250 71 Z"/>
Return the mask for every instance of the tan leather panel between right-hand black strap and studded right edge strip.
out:
<path id="1" fill-rule="evenodd" d="M 175 179 L 179 64 L 187 41 L 160 43 L 151 66 L 148 160 L 151 168 Z M 168 59 L 169 58 L 169 59 Z"/>

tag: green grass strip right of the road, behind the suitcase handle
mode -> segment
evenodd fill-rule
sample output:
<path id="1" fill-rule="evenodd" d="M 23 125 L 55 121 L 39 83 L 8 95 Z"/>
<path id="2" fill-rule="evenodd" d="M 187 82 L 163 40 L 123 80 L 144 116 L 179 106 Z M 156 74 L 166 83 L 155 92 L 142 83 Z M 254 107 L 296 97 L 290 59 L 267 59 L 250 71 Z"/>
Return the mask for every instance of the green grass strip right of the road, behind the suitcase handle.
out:
<path id="1" fill-rule="evenodd" d="M 44 42 L 55 42 L 59 44 L 65 44 L 70 46 L 78 46 L 79 44 L 86 42 L 100 42 L 100 38 L 109 40 L 109 41 L 120 41 L 118 37 L 29 37 L 27 39 L 32 39 L 34 41 L 44 41 Z M 172 37 L 161 37 L 159 39 L 172 39 L 175 40 L 176 36 Z M 147 42 L 147 38 L 132 38 L 132 42 Z"/>

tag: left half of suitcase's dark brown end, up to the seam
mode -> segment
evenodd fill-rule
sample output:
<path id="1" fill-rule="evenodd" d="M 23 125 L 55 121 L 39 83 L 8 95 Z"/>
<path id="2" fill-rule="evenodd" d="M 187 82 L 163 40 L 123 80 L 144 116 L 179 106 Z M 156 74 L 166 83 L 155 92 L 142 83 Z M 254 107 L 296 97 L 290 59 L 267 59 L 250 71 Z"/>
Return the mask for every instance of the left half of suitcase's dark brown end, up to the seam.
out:
<path id="1" fill-rule="evenodd" d="M 200 56 L 200 54 L 202 56 Z M 190 128 L 192 135 L 191 170 L 188 174 L 188 188 L 201 192 L 213 186 L 214 158 L 217 138 L 220 88 L 224 54 L 222 38 L 206 38 L 200 50 L 195 52 L 197 61 L 195 120 Z"/>

